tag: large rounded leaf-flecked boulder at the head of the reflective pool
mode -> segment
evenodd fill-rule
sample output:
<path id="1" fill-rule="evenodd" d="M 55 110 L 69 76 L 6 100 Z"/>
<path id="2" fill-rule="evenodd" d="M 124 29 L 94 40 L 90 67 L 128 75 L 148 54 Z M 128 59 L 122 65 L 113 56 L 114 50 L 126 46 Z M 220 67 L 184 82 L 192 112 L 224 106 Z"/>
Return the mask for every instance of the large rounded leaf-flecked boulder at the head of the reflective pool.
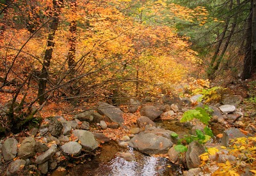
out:
<path id="1" fill-rule="evenodd" d="M 146 154 L 161 154 L 166 153 L 173 143 L 163 136 L 141 132 L 130 140 L 129 145 Z"/>

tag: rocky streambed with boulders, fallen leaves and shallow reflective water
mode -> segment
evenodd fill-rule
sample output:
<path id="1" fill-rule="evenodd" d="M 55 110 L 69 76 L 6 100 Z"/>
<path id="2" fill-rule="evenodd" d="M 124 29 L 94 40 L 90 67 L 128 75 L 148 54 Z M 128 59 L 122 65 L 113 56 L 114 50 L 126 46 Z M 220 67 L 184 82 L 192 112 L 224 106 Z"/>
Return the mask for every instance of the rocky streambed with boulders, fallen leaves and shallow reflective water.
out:
<path id="1" fill-rule="evenodd" d="M 50 117 L 40 129 L 4 138 L 0 144 L 1 175 L 196 175 L 202 172 L 199 156 L 205 147 L 227 147 L 230 140 L 247 137 L 238 128 L 230 128 L 231 123 L 239 127 L 243 120 L 243 113 L 236 108 L 239 103 L 216 105 L 211 107 L 210 126 L 214 135 L 223 133 L 221 144 L 194 141 L 186 153 L 179 153 L 172 134 L 182 136 L 202 129 L 179 122 L 183 112 L 191 109 L 191 100 L 155 105 L 130 102 L 129 113 L 100 102 L 97 109 L 74 119 Z M 140 113 L 134 114 L 138 110 Z M 254 130 L 250 128 L 248 135 Z M 225 163 L 236 157 L 220 148 L 211 159 Z"/>

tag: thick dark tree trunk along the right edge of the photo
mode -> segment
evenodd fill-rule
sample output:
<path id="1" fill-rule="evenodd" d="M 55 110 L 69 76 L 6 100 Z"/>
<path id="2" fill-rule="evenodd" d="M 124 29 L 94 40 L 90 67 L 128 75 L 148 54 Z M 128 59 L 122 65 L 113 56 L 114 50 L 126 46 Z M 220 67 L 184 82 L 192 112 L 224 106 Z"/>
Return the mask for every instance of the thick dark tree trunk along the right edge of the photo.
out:
<path id="1" fill-rule="evenodd" d="M 256 0 L 251 1 L 251 13 L 248 19 L 246 54 L 244 57 L 243 80 L 250 78 L 256 70 Z"/>

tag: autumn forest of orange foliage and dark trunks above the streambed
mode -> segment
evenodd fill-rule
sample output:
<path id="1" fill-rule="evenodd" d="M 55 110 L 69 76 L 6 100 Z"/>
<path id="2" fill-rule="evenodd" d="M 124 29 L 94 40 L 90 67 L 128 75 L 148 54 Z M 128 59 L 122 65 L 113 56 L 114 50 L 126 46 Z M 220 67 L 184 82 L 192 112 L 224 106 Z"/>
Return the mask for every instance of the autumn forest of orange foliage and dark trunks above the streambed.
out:
<path id="1" fill-rule="evenodd" d="M 68 113 L 255 73 L 255 0 L 0 2 L 3 132 L 47 103 Z"/>

